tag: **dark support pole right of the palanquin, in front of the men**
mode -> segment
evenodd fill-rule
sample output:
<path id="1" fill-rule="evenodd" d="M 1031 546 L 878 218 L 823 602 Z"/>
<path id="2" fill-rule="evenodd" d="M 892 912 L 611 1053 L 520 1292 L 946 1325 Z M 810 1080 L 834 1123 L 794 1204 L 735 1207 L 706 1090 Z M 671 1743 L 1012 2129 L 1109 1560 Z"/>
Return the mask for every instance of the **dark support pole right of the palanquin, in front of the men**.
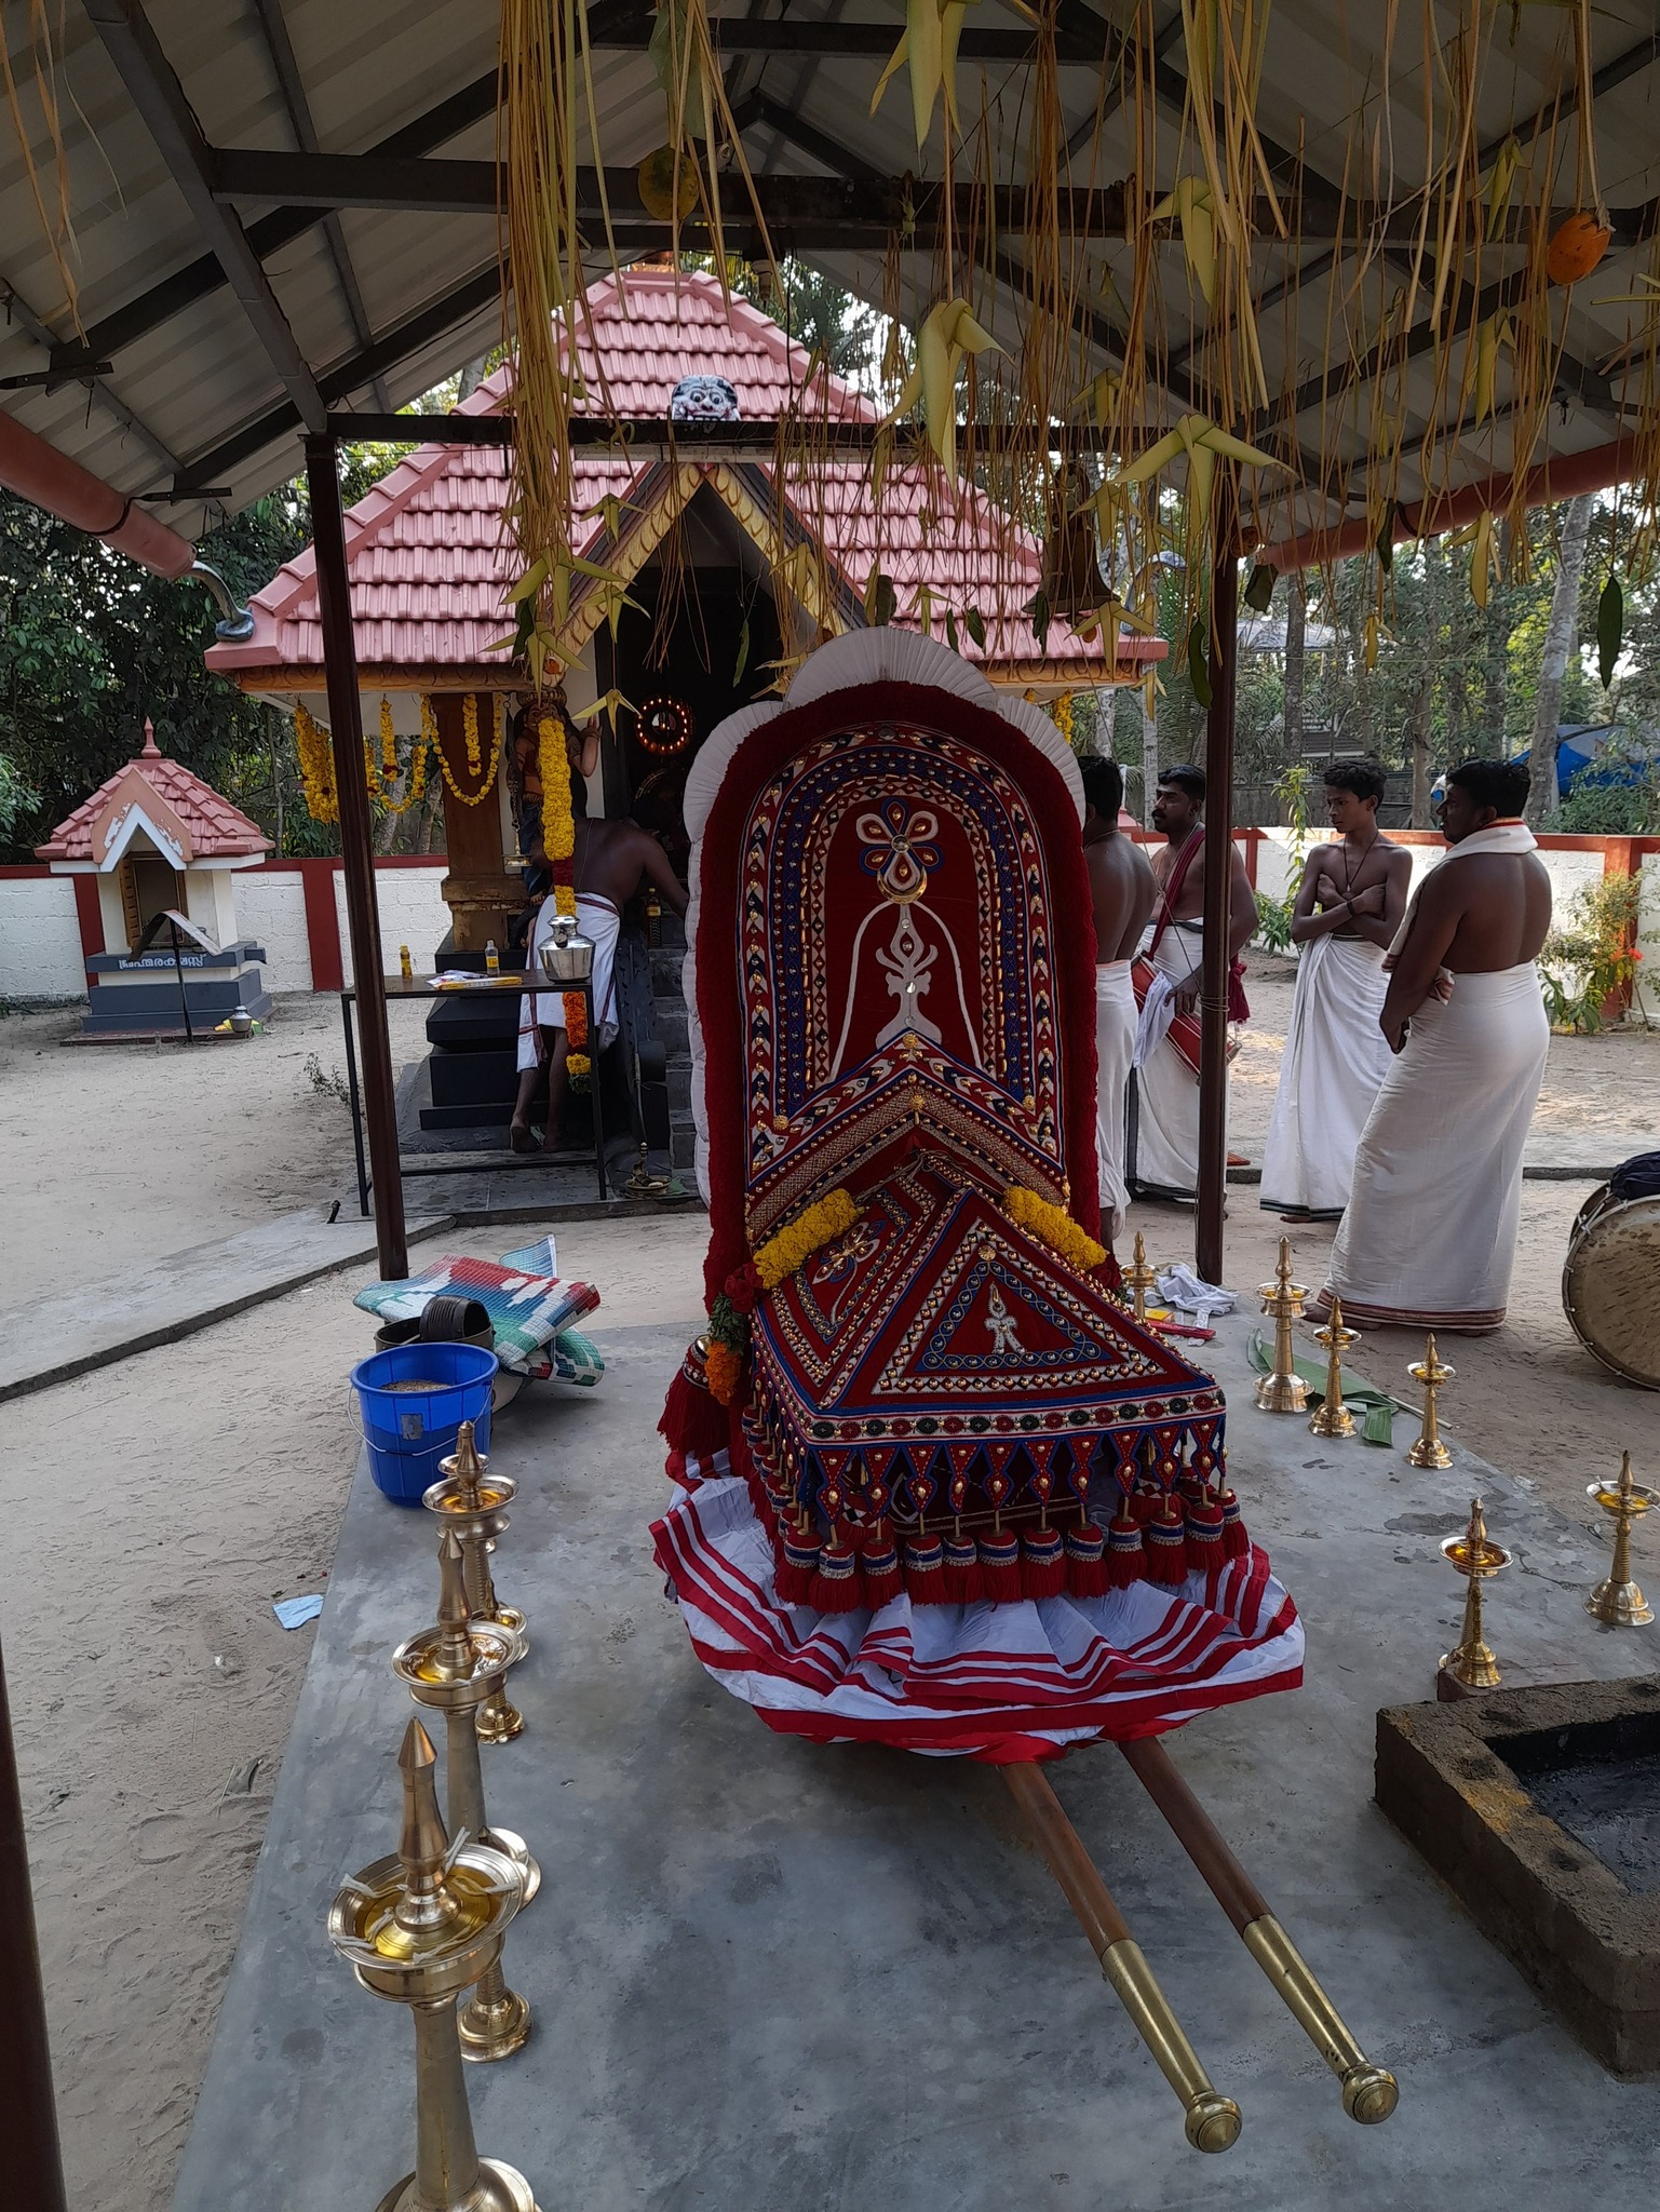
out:
<path id="1" fill-rule="evenodd" d="M 1211 575 L 1211 706 L 1204 717 L 1204 984 L 1200 991 L 1200 1183 L 1195 1267 L 1222 1281 L 1228 1188 L 1228 911 L 1233 905 L 1233 672 L 1239 655 L 1239 551 L 1233 476 L 1217 469 Z"/>

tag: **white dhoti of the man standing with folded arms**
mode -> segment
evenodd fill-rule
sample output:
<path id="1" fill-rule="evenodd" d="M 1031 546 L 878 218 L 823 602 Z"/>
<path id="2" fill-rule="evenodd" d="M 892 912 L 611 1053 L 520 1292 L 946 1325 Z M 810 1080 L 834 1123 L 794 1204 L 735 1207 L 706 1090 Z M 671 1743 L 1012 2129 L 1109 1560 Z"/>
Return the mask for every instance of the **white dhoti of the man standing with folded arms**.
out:
<path id="1" fill-rule="evenodd" d="M 1392 1053 L 1377 1026 L 1388 991 L 1383 947 L 1313 938 L 1297 962 L 1286 1055 L 1262 1152 L 1262 1203 L 1341 1214 L 1355 1150 Z"/>

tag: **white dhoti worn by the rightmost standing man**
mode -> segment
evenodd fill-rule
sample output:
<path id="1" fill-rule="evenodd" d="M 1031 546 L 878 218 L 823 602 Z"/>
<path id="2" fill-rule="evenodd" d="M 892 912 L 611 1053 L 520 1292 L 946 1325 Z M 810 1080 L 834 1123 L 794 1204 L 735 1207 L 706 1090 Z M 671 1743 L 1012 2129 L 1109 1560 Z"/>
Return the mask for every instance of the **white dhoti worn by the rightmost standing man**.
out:
<path id="1" fill-rule="evenodd" d="M 1496 1329 L 1549 1022 L 1532 960 L 1428 998 L 1366 1121 L 1324 1298 L 1343 1318 Z"/>

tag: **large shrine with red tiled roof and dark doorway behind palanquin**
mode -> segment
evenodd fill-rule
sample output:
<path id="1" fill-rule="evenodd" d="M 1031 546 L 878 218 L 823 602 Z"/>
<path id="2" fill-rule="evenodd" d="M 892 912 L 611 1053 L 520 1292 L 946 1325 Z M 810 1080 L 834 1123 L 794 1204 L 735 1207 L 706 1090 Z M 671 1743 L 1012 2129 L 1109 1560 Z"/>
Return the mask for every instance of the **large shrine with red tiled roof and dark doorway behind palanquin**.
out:
<path id="1" fill-rule="evenodd" d="M 582 560 L 604 568 L 573 588 L 562 650 L 569 710 L 613 701 L 589 790 L 591 814 L 633 814 L 684 863 L 679 794 L 699 745 L 735 708 L 779 686 L 792 655 L 865 626 L 872 573 L 892 586 L 892 622 L 954 644 L 992 684 L 1031 699 L 1135 684 L 1162 639 L 1102 646 L 1062 615 L 1034 630 L 1042 584 L 1038 538 L 972 484 L 894 465 L 881 522 L 868 456 L 834 451 L 697 458 L 706 422 L 879 420 L 879 407 L 815 367 L 768 314 L 713 274 L 644 263 L 593 283 L 582 316 L 584 387 L 606 414 L 675 420 L 682 458 L 589 451 L 573 462 L 587 520 Z M 511 363 L 458 416 L 511 407 Z M 496 741 L 529 697 L 511 664 L 516 549 L 507 524 L 509 460 L 498 445 L 423 445 L 345 515 L 352 633 L 363 730 L 374 774 L 425 732 L 443 774 L 443 956 L 478 964 L 522 905 L 511 757 Z M 252 633 L 208 650 L 208 666 L 310 726 L 328 721 L 317 555 L 288 562 L 248 602 Z M 615 622 L 613 622 L 615 617 Z M 622 703 L 626 701 L 626 703 Z M 412 770 L 401 770 L 403 790 Z M 425 964 L 427 947 L 416 947 Z M 438 962 L 443 964 L 443 960 Z"/>

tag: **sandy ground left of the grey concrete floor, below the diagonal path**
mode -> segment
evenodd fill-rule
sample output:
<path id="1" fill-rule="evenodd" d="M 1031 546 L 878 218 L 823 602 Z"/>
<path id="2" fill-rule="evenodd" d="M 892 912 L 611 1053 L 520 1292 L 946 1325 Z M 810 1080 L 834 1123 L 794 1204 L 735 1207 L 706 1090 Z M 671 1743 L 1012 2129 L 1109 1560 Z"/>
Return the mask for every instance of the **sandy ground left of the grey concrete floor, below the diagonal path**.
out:
<path id="1" fill-rule="evenodd" d="M 595 1334 L 702 1318 L 708 1223 L 640 1228 L 560 1232 L 562 1272 L 602 1285 Z M 0 1635 L 77 2212 L 173 2192 L 314 1635 L 270 1601 L 321 1588 L 356 1458 L 365 1276 L 7 1407 L 0 1511 L 29 1571 Z"/>

